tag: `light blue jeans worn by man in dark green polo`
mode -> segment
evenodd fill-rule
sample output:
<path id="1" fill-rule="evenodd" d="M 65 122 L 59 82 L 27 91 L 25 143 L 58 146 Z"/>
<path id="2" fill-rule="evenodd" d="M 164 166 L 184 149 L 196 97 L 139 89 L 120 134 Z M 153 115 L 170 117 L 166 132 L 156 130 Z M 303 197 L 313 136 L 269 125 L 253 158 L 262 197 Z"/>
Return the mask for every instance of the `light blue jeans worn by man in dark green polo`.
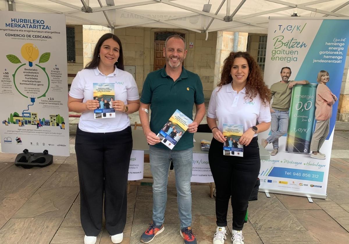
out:
<path id="1" fill-rule="evenodd" d="M 190 178 L 193 168 L 193 148 L 172 151 L 149 146 L 150 170 L 153 175 L 153 223 L 164 223 L 167 201 L 167 182 L 172 159 L 176 176 L 178 214 L 180 228 L 192 224 L 192 193 Z"/>

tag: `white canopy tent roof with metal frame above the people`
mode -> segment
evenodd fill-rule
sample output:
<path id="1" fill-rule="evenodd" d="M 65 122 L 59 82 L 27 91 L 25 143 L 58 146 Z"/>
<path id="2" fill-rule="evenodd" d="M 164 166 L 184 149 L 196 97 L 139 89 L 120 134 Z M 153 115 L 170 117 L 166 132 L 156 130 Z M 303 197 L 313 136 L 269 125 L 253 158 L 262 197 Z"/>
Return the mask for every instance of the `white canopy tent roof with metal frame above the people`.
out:
<path id="1" fill-rule="evenodd" d="M 267 33 L 269 16 L 349 17 L 349 1 L 345 0 L 0 0 L 0 9 L 65 14 L 66 23 L 72 25 L 180 28 L 200 33 Z"/>

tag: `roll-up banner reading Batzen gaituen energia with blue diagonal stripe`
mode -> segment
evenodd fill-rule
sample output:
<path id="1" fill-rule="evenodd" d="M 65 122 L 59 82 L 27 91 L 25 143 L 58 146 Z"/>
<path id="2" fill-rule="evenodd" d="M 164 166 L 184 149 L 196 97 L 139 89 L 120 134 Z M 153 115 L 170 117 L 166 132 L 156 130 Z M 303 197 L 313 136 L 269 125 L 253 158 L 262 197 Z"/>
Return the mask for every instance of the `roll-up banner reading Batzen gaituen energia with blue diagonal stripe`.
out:
<path id="1" fill-rule="evenodd" d="M 272 107 L 276 96 L 289 99 L 285 96 L 287 89 L 292 89 L 291 99 L 289 102 L 285 100 L 284 103 L 277 104 L 281 112 L 273 108 L 275 112 L 273 116 L 271 111 L 270 130 L 258 135 L 260 139 L 267 139 L 269 144 L 266 149 L 269 152 L 278 147 L 276 155 L 271 155 L 268 160 L 261 160 L 260 191 L 326 198 L 334 125 L 348 52 L 348 26 L 348 18 L 269 19 L 264 70 L 266 84 L 269 88 L 275 83 L 280 85 L 283 67 L 291 69 L 289 83 L 304 83 L 306 80 L 310 84 L 296 84 L 284 90 L 277 87 L 279 90 L 271 101 Z M 318 89 L 318 75 L 326 78 L 327 74 L 329 80 L 325 80 L 325 84 L 329 90 L 323 85 Z M 326 94 L 330 94 L 328 100 L 335 100 L 333 95 L 338 100 L 332 108 L 329 101 L 323 110 L 320 105 L 324 106 L 327 102 Z M 326 116 L 329 117 L 328 134 Z M 318 127 L 316 133 L 315 125 Z M 277 135 L 278 131 L 282 136 Z M 312 141 L 312 148 L 316 145 L 315 142 L 320 142 L 321 145 L 321 135 L 325 137 L 325 141 L 319 151 L 324 156 L 318 154 L 318 158 L 313 158 Z M 275 143 L 277 137 L 279 145 Z"/>

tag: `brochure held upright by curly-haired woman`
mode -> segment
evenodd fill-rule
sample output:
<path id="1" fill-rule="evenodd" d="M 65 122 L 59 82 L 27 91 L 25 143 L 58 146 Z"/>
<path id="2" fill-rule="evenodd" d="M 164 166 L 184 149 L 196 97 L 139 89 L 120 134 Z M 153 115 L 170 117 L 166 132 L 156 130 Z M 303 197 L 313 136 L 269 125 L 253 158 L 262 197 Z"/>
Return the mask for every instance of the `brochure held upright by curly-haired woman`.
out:
<path id="1" fill-rule="evenodd" d="M 227 139 L 223 144 L 223 155 L 244 157 L 244 147 L 239 143 L 243 133 L 242 124 L 223 124 L 223 136 Z"/>

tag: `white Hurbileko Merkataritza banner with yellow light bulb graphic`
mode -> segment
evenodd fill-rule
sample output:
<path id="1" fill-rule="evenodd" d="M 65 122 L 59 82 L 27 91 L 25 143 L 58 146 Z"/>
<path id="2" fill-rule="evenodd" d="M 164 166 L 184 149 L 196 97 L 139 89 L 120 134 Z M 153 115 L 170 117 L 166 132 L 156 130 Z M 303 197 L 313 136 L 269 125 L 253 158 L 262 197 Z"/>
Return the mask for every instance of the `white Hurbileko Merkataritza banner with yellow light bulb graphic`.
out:
<path id="1" fill-rule="evenodd" d="M 65 16 L 2 11 L 1 151 L 69 156 Z"/>

